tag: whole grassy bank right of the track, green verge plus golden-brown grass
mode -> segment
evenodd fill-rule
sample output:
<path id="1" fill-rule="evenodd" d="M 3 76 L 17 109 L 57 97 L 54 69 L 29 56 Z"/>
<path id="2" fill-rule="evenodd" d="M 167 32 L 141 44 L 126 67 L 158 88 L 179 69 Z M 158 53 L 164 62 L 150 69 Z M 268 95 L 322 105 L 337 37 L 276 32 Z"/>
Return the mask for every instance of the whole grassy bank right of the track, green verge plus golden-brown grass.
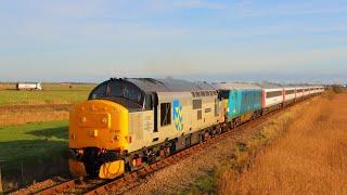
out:
<path id="1" fill-rule="evenodd" d="M 343 100 L 347 93 L 335 96 L 330 91 L 269 120 L 234 144 L 230 156 L 207 176 L 196 178 L 189 193 L 346 192 L 347 101 Z"/>

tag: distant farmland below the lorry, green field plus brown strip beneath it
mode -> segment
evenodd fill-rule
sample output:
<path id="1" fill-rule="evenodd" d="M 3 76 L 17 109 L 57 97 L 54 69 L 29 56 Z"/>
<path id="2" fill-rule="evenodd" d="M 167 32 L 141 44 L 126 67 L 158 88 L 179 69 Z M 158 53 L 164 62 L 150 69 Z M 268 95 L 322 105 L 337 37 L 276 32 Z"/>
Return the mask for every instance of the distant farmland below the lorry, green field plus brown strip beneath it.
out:
<path id="1" fill-rule="evenodd" d="M 93 83 L 42 83 L 42 91 L 17 91 L 0 83 L 0 126 L 67 120 L 72 106 L 88 99 Z"/>

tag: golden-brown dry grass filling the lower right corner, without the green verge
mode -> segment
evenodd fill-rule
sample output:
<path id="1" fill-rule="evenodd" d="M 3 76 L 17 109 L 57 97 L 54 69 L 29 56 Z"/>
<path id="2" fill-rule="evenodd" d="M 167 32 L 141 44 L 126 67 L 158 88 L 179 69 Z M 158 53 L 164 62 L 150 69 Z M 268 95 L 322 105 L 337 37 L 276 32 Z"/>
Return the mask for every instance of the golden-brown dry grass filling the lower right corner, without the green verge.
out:
<path id="1" fill-rule="evenodd" d="M 347 93 L 318 98 L 310 105 L 248 171 L 224 173 L 219 192 L 347 194 Z"/>

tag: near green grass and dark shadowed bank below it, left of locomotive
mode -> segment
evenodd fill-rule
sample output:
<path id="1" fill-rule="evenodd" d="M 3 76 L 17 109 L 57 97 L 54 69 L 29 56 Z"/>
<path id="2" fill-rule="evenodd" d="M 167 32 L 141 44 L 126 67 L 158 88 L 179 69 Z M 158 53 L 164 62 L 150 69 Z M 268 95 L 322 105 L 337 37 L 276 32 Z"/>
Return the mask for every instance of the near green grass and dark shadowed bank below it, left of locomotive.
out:
<path id="1" fill-rule="evenodd" d="M 7 190 L 67 172 L 68 122 L 0 128 L 0 166 Z"/>

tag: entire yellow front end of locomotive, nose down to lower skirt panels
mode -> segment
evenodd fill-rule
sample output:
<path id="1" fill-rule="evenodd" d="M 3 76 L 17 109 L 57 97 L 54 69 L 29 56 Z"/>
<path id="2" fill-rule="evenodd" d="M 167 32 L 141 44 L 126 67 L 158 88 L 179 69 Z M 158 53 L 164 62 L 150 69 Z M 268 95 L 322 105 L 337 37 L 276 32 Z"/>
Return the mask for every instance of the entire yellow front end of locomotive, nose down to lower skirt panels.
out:
<path id="1" fill-rule="evenodd" d="M 119 154 L 127 147 L 129 112 L 112 101 L 85 101 L 69 119 L 70 172 L 76 177 L 99 174 L 113 179 L 124 173 Z"/>

